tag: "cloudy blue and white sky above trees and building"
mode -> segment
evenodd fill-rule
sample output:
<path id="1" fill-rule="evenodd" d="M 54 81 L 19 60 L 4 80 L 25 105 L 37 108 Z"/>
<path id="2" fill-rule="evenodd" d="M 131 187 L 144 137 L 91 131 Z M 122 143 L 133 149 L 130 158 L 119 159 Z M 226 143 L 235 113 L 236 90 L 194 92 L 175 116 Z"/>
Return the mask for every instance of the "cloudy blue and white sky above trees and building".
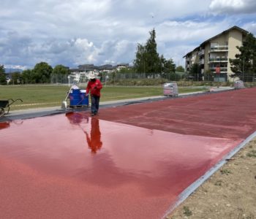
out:
<path id="1" fill-rule="evenodd" d="M 184 55 L 233 26 L 256 36 L 255 0 L 0 0 L 0 64 L 132 64 L 154 28 L 159 55 L 184 66 Z"/>

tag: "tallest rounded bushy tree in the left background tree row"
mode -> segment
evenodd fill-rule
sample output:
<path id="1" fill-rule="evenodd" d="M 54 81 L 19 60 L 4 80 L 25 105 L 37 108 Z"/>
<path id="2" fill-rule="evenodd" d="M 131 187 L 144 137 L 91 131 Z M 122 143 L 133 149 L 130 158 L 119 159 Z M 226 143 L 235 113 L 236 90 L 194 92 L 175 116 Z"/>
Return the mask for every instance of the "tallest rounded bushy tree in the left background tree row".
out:
<path id="1" fill-rule="evenodd" d="M 49 83 L 50 74 L 52 74 L 53 68 L 46 62 L 40 62 L 34 66 L 32 70 L 33 80 L 36 83 Z"/>

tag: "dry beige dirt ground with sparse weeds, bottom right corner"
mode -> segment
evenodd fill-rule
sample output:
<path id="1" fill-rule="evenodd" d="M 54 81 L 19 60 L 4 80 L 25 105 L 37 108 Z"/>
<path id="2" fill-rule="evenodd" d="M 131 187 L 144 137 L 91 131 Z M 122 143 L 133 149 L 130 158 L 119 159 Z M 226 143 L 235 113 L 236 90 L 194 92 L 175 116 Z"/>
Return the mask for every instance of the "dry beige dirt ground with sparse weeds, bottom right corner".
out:
<path id="1" fill-rule="evenodd" d="M 166 219 L 256 218 L 256 138 Z"/>

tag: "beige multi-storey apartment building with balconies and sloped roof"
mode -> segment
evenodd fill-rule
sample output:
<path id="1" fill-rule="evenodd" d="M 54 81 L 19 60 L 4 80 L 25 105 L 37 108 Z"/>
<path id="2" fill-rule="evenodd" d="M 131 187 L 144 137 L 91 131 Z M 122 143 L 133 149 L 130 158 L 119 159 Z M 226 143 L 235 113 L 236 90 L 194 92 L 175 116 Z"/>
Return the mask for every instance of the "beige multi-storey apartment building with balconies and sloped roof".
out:
<path id="1" fill-rule="evenodd" d="M 215 37 L 211 37 L 196 47 L 191 52 L 184 55 L 186 58 L 185 69 L 189 72 L 193 64 L 198 64 L 197 79 L 208 80 L 211 71 L 214 75 L 214 81 L 233 81 L 230 74 L 233 72 L 230 69 L 230 58 L 236 58 L 235 55 L 239 53 L 237 46 L 241 46 L 243 40 L 248 34 L 238 26 L 223 31 Z M 216 73 L 220 70 L 219 74 Z"/>

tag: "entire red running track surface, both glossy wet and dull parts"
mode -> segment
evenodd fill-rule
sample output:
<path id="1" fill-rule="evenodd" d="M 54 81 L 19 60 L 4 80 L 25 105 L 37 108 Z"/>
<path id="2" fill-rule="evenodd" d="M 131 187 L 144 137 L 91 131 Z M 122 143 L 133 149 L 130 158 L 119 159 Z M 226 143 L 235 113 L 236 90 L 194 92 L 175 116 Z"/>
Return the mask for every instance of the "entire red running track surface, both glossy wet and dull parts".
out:
<path id="1" fill-rule="evenodd" d="M 256 89 L 0 123 L 0 218 L 161 218 L 256 130 Z"/>

